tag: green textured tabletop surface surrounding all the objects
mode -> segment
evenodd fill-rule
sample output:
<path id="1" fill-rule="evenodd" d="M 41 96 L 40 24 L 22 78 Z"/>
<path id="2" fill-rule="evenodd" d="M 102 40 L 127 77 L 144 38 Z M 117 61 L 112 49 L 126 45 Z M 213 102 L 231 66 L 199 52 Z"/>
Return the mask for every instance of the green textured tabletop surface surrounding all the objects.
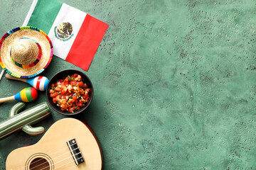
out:
<path id="1" fill-rule="evenodd" d="M 99 138 L 103 169 L 256 169 L 256 1 L 63 0 L 110 24 L 85 72 L 95 96 L 75 116 Z M 0 34 L 21 26 L 32 1 L 0 0 Z M 79 69 L 53 57 L 43 72 Z M 0 96 L 26 84 L 6 78 Z M 46 101 L 45 93 L 26 106 Z M 5 120 L 16 101 L 0 104 Z M 63 115 L 38 125 L 49 128 Z M 0 141 L 13 149 L 42 135 Z"/>

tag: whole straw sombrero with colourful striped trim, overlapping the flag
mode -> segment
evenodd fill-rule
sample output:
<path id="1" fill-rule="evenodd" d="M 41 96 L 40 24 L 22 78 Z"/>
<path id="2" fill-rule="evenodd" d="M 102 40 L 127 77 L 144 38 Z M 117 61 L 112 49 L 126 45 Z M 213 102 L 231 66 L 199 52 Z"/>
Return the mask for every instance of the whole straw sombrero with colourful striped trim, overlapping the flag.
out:
<path id="1" fill-rule="evenodd" d="M 9 30 L 0 40 L 0 65 L 14 77 L 43 72 L 53 57 L 53 45 L 42 30 L 30 26 Z"/>

